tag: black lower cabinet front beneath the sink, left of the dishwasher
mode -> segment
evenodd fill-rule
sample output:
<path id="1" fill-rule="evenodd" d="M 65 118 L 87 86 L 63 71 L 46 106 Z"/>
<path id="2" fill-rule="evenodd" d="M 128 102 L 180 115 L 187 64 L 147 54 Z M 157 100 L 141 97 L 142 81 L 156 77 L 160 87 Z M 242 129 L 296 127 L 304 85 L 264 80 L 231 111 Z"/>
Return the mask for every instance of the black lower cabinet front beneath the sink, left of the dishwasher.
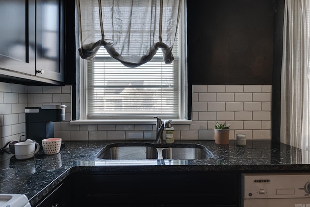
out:
<path id="1" fill-rule="evenodd" d="M 72 207 L 237 207 L 237 174 L 76 173 Z"/>

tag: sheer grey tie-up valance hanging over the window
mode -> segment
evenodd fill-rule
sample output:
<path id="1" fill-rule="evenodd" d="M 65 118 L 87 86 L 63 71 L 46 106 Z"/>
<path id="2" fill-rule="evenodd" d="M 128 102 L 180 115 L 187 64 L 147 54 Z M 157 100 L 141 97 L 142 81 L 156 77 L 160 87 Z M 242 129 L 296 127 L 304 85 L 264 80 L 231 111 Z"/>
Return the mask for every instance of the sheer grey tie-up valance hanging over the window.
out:
<path id="1" fill-rule="evenodd" d="M 81 58 L 103 46 L 127 67 L 149 62 L 161 48 L 173 61 L 181 0 L 77 0 Z"/>

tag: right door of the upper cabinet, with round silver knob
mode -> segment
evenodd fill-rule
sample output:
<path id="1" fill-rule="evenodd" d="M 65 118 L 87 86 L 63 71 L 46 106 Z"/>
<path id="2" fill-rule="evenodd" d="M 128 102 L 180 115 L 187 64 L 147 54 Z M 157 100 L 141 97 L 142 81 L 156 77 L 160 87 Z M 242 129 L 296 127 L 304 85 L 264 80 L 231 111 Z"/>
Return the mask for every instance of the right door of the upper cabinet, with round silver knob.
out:
<path id="1" fill-rule="evenodd" d="M 36 2 L 36 76 L 63 82 L 63 0 Z"/>

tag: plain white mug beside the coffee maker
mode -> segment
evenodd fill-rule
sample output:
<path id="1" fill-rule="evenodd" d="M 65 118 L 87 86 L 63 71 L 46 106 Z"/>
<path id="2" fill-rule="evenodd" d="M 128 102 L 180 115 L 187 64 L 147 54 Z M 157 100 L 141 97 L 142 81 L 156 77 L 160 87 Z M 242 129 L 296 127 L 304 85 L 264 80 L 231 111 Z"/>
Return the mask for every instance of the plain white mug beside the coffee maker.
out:
<path id="1" fill-rule="evenodd" d="M 16 159 L 29 159 L 40 149 L 40 144 L 36 142 L 20 142 L 14 144 Z"/>

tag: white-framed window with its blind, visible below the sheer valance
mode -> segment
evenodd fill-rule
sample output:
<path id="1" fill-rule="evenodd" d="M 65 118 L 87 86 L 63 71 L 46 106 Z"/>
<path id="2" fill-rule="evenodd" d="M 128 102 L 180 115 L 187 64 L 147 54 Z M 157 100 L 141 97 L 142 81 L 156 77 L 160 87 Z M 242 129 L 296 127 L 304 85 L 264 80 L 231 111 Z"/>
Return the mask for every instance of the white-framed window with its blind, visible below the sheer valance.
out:
<path id="1" fill-rule="evenodd" d="M 104 47 L 92 60 L 80 59 L 80 120 L 187 119 L 184 3 L 171 64 L 165 64 L 161 49 L 134 68 L 112 58 Z"/>

